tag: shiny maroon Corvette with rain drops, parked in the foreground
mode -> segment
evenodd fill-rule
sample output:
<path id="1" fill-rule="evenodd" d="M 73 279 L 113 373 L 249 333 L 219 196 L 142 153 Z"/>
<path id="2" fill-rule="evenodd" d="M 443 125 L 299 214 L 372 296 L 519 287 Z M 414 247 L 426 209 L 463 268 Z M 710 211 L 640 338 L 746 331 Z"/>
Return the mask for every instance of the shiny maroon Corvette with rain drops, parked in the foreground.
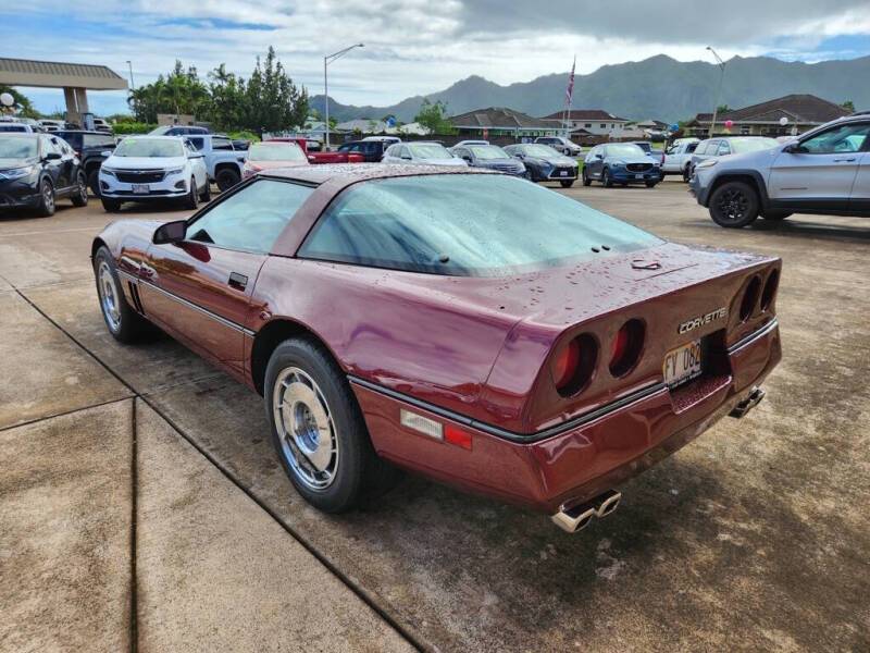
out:
<path id="1" fill-rule="evenodd" d="M 289 478 L 328 512 L 395 465 L 575 531 L 745 415 L 781 357 L 779 259 L 498 173 L 270 171 L 187 221 L 114 222 L 92 260 L 112 334 L 153 323 L 262 394 Z"/>

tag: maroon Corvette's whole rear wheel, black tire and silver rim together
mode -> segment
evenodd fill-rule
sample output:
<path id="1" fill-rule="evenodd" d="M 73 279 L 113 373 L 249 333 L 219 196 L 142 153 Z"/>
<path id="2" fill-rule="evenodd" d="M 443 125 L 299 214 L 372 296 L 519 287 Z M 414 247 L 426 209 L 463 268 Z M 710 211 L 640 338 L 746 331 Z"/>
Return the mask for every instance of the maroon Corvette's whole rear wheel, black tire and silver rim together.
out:
<path id="1" fill-rule="evenodd" d="M 374 453 L 347 379 L 319 344 L 306 338 L 279 344 L 269 359 L 264 395 L 275 453 L 296 490 L 315 508 L 343 513 L 366 489 L 384 489 L 395 477 Z M 276 403 L 284 407 L 276 410 Z"/>

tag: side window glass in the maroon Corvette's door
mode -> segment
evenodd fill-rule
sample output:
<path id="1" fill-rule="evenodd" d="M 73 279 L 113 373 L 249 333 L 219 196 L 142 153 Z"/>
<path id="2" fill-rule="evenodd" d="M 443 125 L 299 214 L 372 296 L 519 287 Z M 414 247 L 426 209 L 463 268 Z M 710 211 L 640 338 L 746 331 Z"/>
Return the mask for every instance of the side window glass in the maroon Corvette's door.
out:
<path id="1" fill-rule="evenodd" d="M 187 239 L 266 254 L 312 189 L 260 180 L 187 225 Z"/>

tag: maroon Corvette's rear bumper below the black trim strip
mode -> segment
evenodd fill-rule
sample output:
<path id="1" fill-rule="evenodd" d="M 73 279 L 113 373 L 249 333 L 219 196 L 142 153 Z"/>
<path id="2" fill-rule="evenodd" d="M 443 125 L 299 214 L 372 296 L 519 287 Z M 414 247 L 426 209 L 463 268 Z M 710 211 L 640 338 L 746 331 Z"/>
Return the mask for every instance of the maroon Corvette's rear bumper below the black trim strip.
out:
<path id="1" fill-rule="evenodd" d="M 532 435 L 526 442 L 369 383 L 352 382 L 352 387 L 375 451 L 384 458 L 465 490 L 552 514 L 641 473 L 731 412 L 779 362 L 779 326 L 768 324 L 744 338 L 728 357 L 731 373 L 725 377 L 699 380 L 688 392 L 654 386 L 635 401 L 596 411 L 581 426 L 540 440 Z M 402 408 L 471 433 L 472 449 L 403 428 Z"/>

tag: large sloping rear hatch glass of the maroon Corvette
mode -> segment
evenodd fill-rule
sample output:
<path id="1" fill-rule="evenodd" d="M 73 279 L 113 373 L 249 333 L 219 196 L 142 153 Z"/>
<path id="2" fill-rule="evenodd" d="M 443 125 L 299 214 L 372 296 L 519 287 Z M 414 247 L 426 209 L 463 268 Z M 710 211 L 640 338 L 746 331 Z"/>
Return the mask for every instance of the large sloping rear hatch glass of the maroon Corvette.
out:
<path id="1" fill-rule="evenodd" d="M 351 186 L 320 219 L 299 255 L 410 272 L 494 276 L 602 256 L 592 247 L 632 251 L 661 242 L 522 180 L 425 175 Z"/>

